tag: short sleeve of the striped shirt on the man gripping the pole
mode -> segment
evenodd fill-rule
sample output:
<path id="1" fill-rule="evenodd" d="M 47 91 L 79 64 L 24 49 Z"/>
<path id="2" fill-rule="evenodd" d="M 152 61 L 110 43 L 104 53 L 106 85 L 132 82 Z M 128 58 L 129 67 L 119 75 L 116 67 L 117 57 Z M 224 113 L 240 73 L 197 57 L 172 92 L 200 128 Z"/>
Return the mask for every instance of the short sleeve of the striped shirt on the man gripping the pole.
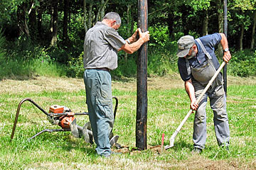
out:
<path id="1" fill-rule="evenodd" d="M 108 28 L 105 31 L 105 39 L 115 49 L 119 50 L 122 45 L 125 45 L 126 41 L 122 38 L 114 28 Z"/>

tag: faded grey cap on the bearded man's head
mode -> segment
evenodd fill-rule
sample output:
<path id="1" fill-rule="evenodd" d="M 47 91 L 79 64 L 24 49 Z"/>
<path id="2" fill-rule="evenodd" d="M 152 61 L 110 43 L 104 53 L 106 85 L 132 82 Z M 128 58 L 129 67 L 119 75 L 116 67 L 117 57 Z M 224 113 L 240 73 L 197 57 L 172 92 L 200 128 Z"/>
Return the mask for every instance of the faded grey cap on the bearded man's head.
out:
<path id="1" fill-rule="evenodd" d="M 195 43 L 194 38 L 191 35 L 185 35 L 178 40 L 178 57 L 185 57 L 188 55 L 190 48 Z"/>

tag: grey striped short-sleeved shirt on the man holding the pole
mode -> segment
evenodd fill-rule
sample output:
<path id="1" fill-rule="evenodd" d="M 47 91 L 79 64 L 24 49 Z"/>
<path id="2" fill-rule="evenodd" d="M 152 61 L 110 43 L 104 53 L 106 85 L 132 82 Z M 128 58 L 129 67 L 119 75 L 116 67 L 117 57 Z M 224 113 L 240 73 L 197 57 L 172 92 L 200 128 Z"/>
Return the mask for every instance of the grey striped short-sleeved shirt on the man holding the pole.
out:
<path id="1" fill-rule="evenodd" d="M 84 43 L 84 68 L 117 68 L 117 50 L 126 42 L 105 23 L 97 22 L 87 30 Z"/>

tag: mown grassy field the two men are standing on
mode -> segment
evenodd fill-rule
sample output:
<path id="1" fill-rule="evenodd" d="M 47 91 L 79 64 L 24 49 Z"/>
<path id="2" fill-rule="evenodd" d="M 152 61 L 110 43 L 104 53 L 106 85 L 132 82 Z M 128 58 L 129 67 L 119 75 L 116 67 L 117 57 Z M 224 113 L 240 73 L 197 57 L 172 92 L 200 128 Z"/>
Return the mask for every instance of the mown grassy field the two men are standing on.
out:
<path id="1" fill-rule="evenodd" d="M 207 106 L 208 138 L 202 154 L 193 149 L 193 114 L 176 137 L 174 147 L 159 154 L 161 135 L 164 145 L 189 111 L 189 101 L 178 75 L 148 79 L 148 149 L 134 149 L 136 123 L 136 79 L 112 81 L 113 96 L 119 98 L 114 135 L 119 135 L 123 154 L 102 158 L 95 145 L 73 137 L 70 132 L 45 132 L 46 115 L 25 102 L 10 142 L 18 103 L 31 98 L 48 111 L 53 104 L 67 106 L 73 112 L 87 111 L 82 79 L 35 77 L 0 81 L 0 169 L 256 169 L 256 80 L 228 77 L 228 116 L 230 153 L 217 145 L 213 113 Z M 79 125 L 89 121 L 76 117 Z"/>

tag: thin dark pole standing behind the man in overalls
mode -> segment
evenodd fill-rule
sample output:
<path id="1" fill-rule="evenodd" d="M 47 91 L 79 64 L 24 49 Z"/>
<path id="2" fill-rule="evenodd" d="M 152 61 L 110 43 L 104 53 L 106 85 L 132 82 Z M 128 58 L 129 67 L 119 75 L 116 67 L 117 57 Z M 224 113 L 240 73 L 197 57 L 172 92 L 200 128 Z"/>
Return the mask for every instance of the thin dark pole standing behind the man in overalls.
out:
<path id="1" fill-rule="evenodd" d="M 227 0 L 223 1 L 223 7 L 224 7 L 224 33 L 226 38 L 228 39 L 228 4 Z M 227 96 L 227 64 L 223 67 L 223 80 L 224 80 L 224 91 Z"/>

